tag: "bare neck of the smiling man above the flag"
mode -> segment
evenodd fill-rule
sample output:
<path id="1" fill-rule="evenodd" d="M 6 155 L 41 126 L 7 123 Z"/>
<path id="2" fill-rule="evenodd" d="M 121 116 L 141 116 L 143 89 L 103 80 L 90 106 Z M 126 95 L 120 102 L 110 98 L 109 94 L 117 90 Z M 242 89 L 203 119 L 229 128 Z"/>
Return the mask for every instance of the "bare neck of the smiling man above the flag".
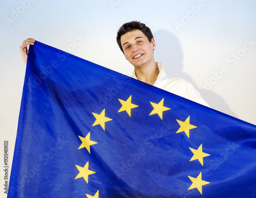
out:
<path id="1" fill-rule="evenodd" d="M 155 61 L 144 67 L 135 67 L 136 77 L 139 81 L 153 85 L 159 74 Z"/>

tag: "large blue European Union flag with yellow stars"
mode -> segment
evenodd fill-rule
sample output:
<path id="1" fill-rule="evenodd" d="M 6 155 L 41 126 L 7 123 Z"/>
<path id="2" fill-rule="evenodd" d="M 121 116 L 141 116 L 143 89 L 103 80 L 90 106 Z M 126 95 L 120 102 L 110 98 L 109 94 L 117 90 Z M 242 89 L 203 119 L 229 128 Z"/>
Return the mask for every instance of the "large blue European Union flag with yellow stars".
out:
<path id="1" fill-rule="evenodd" d="M 8 197 L 256 197 L 256 126 L 30 46 Z"/>

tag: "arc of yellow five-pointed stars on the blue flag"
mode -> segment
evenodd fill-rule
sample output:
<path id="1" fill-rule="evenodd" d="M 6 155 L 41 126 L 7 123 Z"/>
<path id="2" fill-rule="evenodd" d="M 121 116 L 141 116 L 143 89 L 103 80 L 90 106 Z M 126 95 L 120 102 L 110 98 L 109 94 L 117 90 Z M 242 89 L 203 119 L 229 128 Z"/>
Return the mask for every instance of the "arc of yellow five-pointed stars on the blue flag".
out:
<path id="1" fill-rule="evenodd" d="M 126 101 L 121 100 L 119 98 L 118 98 L 118 100 L 122 105 L 122 107 L 119 109 L 118 113 L 126 111 L 126 113 L 131 117 L 132 109 L 139 107 L 138 105 L 135 105 L 135 104 L 132 103 L 132 95 L 129 98 L 127 98 Z M 163 119 L 163 112 L 167 111 L 167 110 L 170 110 L 170 108 L 165 107 L 163 105 L 164 98 L 162 98 L 162 100 L 159 103 L 153 103 L 153 102 L 150 102 L 150 103 L 153 107 L 153 110 L 149 115 L 158 114 L 158 116 L 161 119 Z M 92 127 L 94 127 L 96 125 L 100 125 L 101 128 L 105 131 L 105 122 L 108 122 L 108 121 L 112 120 L 111 118 L 105 116 L 105 109 L 103 109 L 103 111 L 100 114 L 97 114 L 97 113 L 94 113 L 94 112 L 92 112 L 92 114 L 96 118 Z M 189 130 L 197 128 L 197 126 L 194 126 L 194 125 L 190 124 L 190 116 L 188 116 L 185 119 L 185 121 L 181 121 L 181 120 L 178 120 L 178 119 L 176 119 L 176 120 L 180 125 L 180 128 L 178 129 L 176 134 L 184 132 L 186 134 L 186 136 L 189 138 Z M 92 141 L 90 139 L 90 132 L 87 134 L 86 137 L 81 137 L 81 136 L 78 136 L 78 137 L 80 138 L 80 140 L 82 142 L 81 145 L 79 146 L 78 150 L 85 147 L 87 149 L 87 151 L 89 152 L 89 154 L 91 154 L 90 146 L 94 145 L 94 144 L 97 144 L 97 142 Z M 190 148 L 190 147 L 189 147 L 189 149 L 194 154 L 193 157 L 190 159 L 190 161 L 198 160 L 201 163 L 202 166 L 203 166 L 203 158 L 207 157 L 207 156 L 210 156 L 209 154 L 203 152 L 202 144 L 198 147 L 197 150 L 193 149 L 193 148 Z M 79 170 L 79 174 L 76 176 L 75 179 L 83 178 L 87 183 L 88 183 L 89 175 L 92 175 L 92 174 L 96 173 L 95 171 L 92 171 L 92 170 L 89 169 L 89 161 L 83 167 L 78 166 L 78 165 L 76 165 L 76 167 Z M 206 181 L 202 180 L 202 172 L 200 172 L 200 174 L 198 175 L 197 178 L 193 178 L 193 177 L 190 177 L 190 176 L 188 176 L 188 178 L 192 182 L 192 184 L 188 188 L 188 190 L 197 188 L 198 191 L 201 194 L 202 194 L 202 186 L 206 185 L 206 184 L 209 184 L 209 182 L 206 182 Z M 89 194 L 86 194 L 86 195 L 87 195 L 88 198 L 98 198 L 99 197 L 99 190 L 94 194 L 94 196 L 89 195 Z"/>

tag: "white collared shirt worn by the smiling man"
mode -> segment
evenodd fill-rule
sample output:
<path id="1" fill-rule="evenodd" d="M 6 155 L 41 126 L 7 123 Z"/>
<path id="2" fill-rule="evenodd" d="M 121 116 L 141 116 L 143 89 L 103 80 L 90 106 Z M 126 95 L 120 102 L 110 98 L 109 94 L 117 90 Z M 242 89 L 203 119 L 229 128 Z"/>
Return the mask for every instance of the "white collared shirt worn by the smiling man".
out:
<path id="1" fill-rule="evenodd" d="M 209 105 L 191 83 L 184 79 L 166 76 L 163 66 L 159 62 L 157 62 L 156 67 L 159 70 L 159 74 L 153 86 L 209 107 Z M 133 71 L 132 78 L 137 79 L 135 70 Z"/>

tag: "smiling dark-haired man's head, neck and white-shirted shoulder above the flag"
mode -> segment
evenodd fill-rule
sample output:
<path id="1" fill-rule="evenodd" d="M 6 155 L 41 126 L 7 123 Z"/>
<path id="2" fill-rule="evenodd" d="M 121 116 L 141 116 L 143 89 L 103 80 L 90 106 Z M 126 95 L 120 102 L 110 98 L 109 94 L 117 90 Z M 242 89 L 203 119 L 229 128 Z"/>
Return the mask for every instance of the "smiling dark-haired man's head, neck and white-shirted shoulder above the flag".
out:
<path id="1" fill-rule="evenodd" d="M 165 75 L 162 64 L 155 62 L 156 42 L 144 23 L 132 21 L 123 24 L 116 39 L 126 60 L 134 66 L 132 78 L 208 106 L 191 83 Z"/>

